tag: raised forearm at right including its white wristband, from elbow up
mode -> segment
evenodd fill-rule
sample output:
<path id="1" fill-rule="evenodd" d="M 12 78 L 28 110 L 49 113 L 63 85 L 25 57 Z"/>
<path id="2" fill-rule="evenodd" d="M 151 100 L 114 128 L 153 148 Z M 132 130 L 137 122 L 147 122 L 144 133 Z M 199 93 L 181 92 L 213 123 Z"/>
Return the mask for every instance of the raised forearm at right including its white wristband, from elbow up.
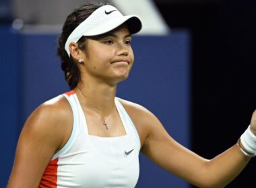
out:
<path id="1" fill-rule="evenodd" d="M 252 131 L 254 128 L 255 124 L 249 126 L 236 145 L 207 162 L 206 167 L 216 181 L 217 187 L 224 187 L 232 181 L 241 173 L 250 158 L 255 156 L 256 137 Z"/>

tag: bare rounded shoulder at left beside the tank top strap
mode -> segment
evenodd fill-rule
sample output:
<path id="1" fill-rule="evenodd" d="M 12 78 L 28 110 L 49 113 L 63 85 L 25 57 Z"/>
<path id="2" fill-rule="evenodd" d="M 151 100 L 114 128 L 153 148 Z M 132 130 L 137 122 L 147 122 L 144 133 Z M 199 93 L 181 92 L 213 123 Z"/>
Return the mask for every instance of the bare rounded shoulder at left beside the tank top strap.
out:
<path id="1" fill-rule="evenodd" d="M 46 137 L 59 147 L 71 132 L 73 116 L 71 107 L 63 95 L 42 103 L 28 117 L 22 134 Z M 22 136 L 22 135 L 21 135 Z M 33 139 L 35 138 L 33 136 Z"/>

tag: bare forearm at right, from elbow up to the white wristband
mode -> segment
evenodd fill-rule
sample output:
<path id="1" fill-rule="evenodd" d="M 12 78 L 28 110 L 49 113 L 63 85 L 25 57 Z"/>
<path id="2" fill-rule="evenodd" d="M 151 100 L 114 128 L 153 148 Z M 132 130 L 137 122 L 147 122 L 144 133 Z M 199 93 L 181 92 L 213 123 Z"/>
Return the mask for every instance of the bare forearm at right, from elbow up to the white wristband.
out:
<path id="1" fill-rule="evenodd" d="M 250 158 L 243 155 L 236 144 L 205 165 L 210 187 L 224 187 L 245 168 Z"/>

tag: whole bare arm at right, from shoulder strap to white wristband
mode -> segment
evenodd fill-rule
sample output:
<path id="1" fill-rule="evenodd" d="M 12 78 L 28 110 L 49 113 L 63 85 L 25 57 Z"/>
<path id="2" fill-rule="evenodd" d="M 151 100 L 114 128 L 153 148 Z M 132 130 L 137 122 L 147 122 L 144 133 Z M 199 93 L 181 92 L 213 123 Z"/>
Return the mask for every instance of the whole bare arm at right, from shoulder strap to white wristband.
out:
<path id="1" fill-rule="evenodd" d="M 141 152 L 197 187 L 225 187 L 249 161 L 236 144 L 211 160 L 202 158 L 172 139 L 153 113 L 133 103 L 123 105 L 139 133 Z"/>

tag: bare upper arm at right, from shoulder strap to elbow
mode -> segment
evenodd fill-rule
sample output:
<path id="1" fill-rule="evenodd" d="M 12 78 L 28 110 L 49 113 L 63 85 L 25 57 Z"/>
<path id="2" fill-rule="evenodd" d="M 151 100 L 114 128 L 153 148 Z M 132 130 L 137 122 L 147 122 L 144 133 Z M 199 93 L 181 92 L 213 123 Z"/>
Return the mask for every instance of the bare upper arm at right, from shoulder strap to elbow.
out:
<path id="1" fill-rule="evenodd" d="M 198 185 L 208 160 L 176 142 L 156 116 L 139 105 L 126 104 L 141 139 L 141 152 L 158 166 Z"/>

